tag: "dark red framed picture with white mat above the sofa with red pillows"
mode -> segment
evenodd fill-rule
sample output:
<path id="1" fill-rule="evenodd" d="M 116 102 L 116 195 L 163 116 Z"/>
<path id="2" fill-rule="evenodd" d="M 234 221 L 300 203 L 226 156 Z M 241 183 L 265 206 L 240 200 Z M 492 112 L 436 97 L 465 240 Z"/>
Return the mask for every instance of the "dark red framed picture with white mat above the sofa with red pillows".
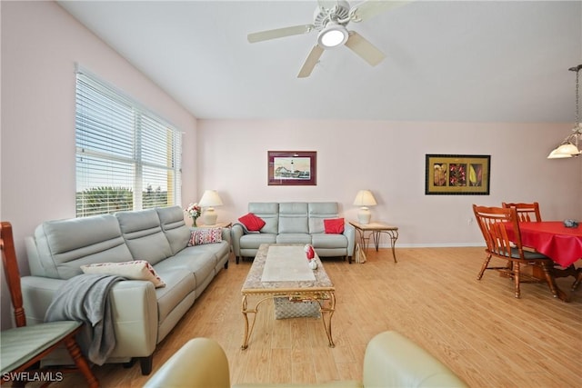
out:
<path id="1" fill-rule="evenodd" d="M 267 151 L 268 185 L 315 186 L 316 151 Z"/>

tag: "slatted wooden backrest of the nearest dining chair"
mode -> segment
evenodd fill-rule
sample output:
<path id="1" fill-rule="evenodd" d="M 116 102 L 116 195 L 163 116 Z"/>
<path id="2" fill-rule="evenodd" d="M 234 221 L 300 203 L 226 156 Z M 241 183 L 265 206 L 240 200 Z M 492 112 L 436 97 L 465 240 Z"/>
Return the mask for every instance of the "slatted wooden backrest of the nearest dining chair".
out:
<path id="1" fill-rule="evenodd" d="M 515 207 L 487 207 L 473 204 L 473 213 L 487 243 L 487 251 L 490 254 L 509 259 L 511 258 L 511 247 L 514 246 L 517 247 L 520 256 L 523 257 L 521 234 Z M 514 238 L 511 241 L 507 236 L 507 224 L 511 224 L 514 232 Z"/>

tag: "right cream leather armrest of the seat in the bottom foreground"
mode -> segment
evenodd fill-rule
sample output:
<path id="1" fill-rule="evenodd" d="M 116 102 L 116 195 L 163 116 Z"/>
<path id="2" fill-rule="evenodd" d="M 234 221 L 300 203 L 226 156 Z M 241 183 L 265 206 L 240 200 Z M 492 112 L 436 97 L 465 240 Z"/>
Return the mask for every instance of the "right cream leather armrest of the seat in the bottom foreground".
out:
<path id="1" fill-rule="evenodd" d="M 447 365 L 396 332 L 377 334 L 366 347 L 364 386 L 467 387 Z"/>

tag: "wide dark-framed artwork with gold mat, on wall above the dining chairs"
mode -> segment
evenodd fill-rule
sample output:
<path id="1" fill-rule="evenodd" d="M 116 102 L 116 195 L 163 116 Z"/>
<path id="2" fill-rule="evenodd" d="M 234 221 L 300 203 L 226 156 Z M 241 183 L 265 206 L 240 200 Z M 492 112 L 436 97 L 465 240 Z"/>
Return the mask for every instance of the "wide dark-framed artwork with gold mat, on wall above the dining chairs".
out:
<path id="1" fill-rule="evenodd" d="M 426 154 L 425 194 L 488 195 L 491 155 Z"/>

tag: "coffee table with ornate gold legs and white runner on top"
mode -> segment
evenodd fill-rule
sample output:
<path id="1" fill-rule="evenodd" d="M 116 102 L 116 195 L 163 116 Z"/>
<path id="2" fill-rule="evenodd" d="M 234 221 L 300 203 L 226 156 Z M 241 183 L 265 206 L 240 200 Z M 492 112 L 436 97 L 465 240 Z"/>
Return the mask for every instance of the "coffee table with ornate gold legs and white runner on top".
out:
<path id="1" fill-rule="evenodd" d="M 241 290 L 242 313 L 245 318 L 245 338 L 242 349 L 248 347 L 259 306 L 276 297 L 286 297 L 289 301 L 297 303 L 304 301 L 318 303 L 329 347 L 336 346 L 331 335 L 331 318 L 336 310 L 336 288 L 329 280 L 317 254 L 314 258 L 317 269 L 309 269 L 303 248 L 304 244 L 261 244 L 259 246 Z M 280 265 L 283 261 L 288 261 L 288 270 L 285 270 L 285 265 Z M 303 264 L 308 271 L 303 268 Z M 248 305 L 249 296 L 258 298 L 253 307 Z M 254 314 L 250 326 L 249 313 Z"/>

